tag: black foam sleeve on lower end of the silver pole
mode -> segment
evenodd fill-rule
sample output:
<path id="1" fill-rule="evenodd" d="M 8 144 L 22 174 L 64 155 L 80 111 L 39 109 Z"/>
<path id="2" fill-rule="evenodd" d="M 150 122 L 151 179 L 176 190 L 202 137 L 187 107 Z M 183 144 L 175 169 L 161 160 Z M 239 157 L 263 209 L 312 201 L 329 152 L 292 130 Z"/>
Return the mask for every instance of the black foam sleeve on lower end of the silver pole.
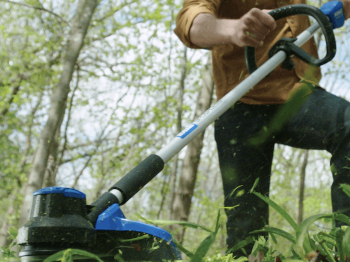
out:
<path id="1" fill-rule="evenodd" d="M 123 201 L 120 205 L 123 205 L 163 170 L 163 168 L 164 161 L 157 155 L 150 155 L 116 182 L 109 191 L 112 189 L 121 191 Z"/>

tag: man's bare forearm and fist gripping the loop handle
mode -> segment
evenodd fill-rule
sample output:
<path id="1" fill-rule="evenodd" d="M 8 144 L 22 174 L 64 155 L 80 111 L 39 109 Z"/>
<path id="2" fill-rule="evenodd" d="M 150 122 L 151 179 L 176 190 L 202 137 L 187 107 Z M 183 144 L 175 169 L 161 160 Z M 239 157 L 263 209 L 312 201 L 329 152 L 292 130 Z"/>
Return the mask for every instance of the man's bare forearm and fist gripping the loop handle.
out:
<path id="1" fill-rule="evenodd" d="M 252 8 L 239 19 L 218 19 L 210 13 L 200 13 L 189 30 L 190 41 L 204 48 L 219 44 L 261 46 L 266 35 L 276 28 L 268 11 Z"/>

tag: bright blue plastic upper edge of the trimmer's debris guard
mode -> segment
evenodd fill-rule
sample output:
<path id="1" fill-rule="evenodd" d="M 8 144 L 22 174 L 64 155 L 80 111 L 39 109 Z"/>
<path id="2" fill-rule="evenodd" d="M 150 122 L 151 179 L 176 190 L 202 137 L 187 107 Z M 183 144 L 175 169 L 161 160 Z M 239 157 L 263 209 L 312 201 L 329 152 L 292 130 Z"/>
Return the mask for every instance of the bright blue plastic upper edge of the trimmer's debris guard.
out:
<path id="1" fill-rule="evenodd" d="M 181 260 L 181 254 L 172 242 L 169 232 L 152 225 L 126 219 L 118 204 L 111 205 L 98 216 L 95 230 L 135 231 L 158 237 L 168 242 L 173 248 L 176 259 Z"/>

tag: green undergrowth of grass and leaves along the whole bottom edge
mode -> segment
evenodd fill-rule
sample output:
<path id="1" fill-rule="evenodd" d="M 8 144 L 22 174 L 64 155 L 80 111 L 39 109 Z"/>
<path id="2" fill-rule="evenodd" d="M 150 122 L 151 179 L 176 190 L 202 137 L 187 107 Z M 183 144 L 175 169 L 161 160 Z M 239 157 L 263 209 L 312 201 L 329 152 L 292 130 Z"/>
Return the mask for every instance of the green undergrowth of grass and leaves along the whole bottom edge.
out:
<path id="1" fill-rule="evenodd" d="M 350 186 L 341 185 L 343 191 L 350 197 Z M 339 214 L 319 214 L 306 218 L 300 225 L 297 225 L 295 221 L 287 214 L 280 206 L 269 198 L 251 191 L 251 194 L 255 194 L 257 197 L 266 202 L 271 208 L 279 213 L 285 221 L 292 227 L 293 232 L 286 232 L 278 228 L 264 227 L 261 230 L 253 231 L 251 233 L 267 233 L 268 240 L 263 237 L 253 239 L 252 237 L 246 238 L 244 241 L 238 243 L 229 252 L 234 254 L 234 251 L 244 249 L 248 243 L 254 243 L 251 254 L 247 257 L 234 257 L 232 253 L 221 255 L 216 254 L 213 256 L 207 256 L 207 252 L 211 245 L 215 241 L 216 234 L 219 229 L 218 213 L 216 219 L 216 225 L 213 230 L 207 229 L 203 226 L 195 225 L 193 223 L 178 222 L 183 226 L 188 226 L 198 230 L 207 231 L 208 236 L 197 246 L 193 247 L 194 252 L 191 252 L 178 243 L 175 245 L 178 249 L 187 257 L 186 261 L 189 262 L 350 262 L 350 219 L 349 217 Z M 319 231 L 317 234 L 309 235 L 308 231 L 310 226 L 316 221 L 331 222 L 332 228 L 329 231 Z M 150 221 L 151 223 L 158 225 L 166 225 L 169 223 L 177 223 L 174 221 Z M 336 222 L 340 222 L 343 226 L 336 227 Z M 12 243 L 8 247 L 2 247 L 1 261 L 19 261 L 16 258 L 16 253 L 12 251 L 12 248 L 16 246 L 16 231 L 10 229 L 10 239 Z M 280 236 L 289 242 L 289 245 L 284 247 L 283 251 L 275 250 L 276 236 Z M 287 253 L 285 251 L 288 250 Z M 288 254 L 285 256 L 283 254 Z M 67 249 L 60 251 L 44 260 L 44 262 L 72 262 L 77 261 L 77 258 L 89 258 L 91 261 L 102 262 L 102 260 L 94 254 L 88 253 L 82 250 Z M 115 257 L 116 261 L 124 262 L 122 254 Z M 180 262 L 180 261 L 179 261 Z"/>

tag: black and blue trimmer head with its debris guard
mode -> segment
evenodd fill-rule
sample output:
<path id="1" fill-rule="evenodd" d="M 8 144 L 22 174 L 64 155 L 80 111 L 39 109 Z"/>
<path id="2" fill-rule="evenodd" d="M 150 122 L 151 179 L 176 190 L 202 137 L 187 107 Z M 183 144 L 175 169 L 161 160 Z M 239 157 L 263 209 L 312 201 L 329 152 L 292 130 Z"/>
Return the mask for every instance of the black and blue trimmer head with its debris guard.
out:
<path id="1" fill-rule="evenodd" d="M 68 248 L 88 251 L 105 262 L 115 261 L 115 256 L 124 261 L 181 259 L 167 231 L 126 219 L 118 204 L 101 212 L 92 225 L 87 215 L 93 209 L 75 189 L 35 191 L 30 218 L 18 231 L 18 244 L 24 246 L 21 261 L 42 261 Z"/>

